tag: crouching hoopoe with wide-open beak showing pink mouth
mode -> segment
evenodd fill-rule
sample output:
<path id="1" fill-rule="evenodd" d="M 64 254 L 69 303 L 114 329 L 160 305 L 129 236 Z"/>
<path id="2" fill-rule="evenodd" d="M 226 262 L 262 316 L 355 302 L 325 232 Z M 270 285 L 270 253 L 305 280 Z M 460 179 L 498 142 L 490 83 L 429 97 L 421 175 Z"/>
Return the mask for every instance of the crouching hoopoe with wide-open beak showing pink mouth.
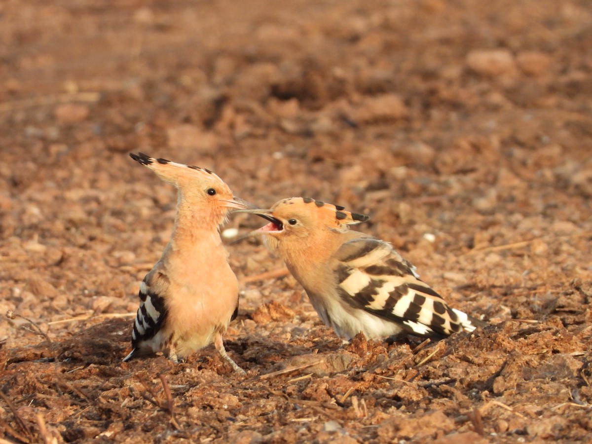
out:
<path id="1" fill-rule="evenodd" d="M 269 221 L 255 233 L 284 259 L 318 316 L 340 337 L 362 332 L 379 338 L 406 330 L 441 338 L 486 325 L 449 307 L 390 243 L 349 230 L 368 220 L 366 215 L 301 197 L 269 210 L 239 211 Z"/>

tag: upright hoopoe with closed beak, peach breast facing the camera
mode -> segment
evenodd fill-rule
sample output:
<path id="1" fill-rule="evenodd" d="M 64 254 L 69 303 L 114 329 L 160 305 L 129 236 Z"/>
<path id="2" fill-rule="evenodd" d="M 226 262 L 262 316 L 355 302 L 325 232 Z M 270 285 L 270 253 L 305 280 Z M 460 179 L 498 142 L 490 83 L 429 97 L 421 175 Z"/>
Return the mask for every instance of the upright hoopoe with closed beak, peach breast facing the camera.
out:
<path id="1" fill-rule="evenodd" d="M 239 307 L 239 284 L 218 227 L 232 208 L 253 208 L 205 168 L 130 153 L 178 189 L 175 225 L 160 260 L 140 284 L 140 308 L 124 361 L 163 352 L 173 362 L 211 343 L 234 371 L 222 335 Z"/>

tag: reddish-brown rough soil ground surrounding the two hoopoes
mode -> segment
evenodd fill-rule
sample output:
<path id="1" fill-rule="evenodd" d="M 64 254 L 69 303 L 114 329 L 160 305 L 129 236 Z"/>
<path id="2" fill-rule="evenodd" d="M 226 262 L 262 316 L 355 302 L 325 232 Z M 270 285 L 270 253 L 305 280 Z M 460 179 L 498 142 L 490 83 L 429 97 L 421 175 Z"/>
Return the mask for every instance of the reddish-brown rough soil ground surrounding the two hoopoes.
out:
<path id="1" fill-rule="evenodd" d="M 591 442 L 591 22 L 589 0 L 2 2 L 1 435 Z M 175 210 L 138 150 L 368 213 L 491 326 L 342 345 L 249 240 L 246 377 L 213 348 L 121 363 Z"/>

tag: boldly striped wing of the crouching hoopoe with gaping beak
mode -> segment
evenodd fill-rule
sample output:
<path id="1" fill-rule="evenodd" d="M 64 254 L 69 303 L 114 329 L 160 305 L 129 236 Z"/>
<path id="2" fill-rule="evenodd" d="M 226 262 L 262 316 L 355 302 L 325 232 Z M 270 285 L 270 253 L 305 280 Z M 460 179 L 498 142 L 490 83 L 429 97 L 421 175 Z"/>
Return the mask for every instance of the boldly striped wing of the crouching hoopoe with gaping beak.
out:
<path id="1" fill-rule="evenodd" d="M 419 336 L 448 336 L 484 326 L 451 308 L 392 246 L 373 237 L 352 239 L 336 254 L 337 291 L 347 303 Z"/>

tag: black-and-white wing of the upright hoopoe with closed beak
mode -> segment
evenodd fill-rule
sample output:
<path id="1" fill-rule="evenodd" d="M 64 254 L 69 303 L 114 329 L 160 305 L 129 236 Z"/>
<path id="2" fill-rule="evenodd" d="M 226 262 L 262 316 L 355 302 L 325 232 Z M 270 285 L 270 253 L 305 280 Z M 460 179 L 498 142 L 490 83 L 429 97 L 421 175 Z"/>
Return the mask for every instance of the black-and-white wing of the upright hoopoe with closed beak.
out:
<path id="1" fill-rule="evenodd" d="M 165 323 L 167 311 L 160 292 L 167 287 L 168 278 L 159 268 L 157 264 L 140 282 L 140 291 L 138 293 L 140 307 L 131 332 L 132 350 L 123 359 L 124 361 L 140 356 L 143 351 L 143 343 L 153 339 Z"/>

